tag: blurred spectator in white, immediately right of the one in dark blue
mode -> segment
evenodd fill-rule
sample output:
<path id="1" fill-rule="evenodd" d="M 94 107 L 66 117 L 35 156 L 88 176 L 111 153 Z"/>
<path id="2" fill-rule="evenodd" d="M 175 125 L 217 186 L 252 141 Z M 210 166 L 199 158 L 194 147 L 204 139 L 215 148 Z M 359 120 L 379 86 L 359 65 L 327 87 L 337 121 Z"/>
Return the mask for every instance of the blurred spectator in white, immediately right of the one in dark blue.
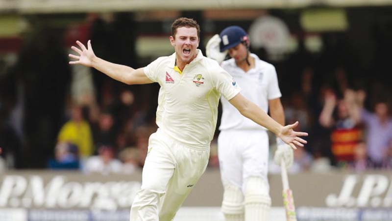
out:
<path id="1" fill-rule="evenodd" d="M 121 173 L 123 164 L 114 158 L 112 146 L 101 145 L 98 148 L 98 156 L 89 157 L 83 169 L 86 173 L 108 175 L 111 173 Z"/>

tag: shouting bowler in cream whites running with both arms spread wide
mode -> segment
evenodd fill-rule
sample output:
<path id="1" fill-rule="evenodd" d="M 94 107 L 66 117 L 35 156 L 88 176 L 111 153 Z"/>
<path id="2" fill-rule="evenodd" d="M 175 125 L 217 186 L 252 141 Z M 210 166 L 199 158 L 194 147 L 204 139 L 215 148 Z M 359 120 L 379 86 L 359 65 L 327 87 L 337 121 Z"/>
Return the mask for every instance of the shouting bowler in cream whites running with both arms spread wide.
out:
<path id="1" fill-rule="evenodd" d="M 298 124 L 283 127 L 240 92 L 232 77 L 213 59 L 204 57 L 196 21 L 179 18 L 172 24 L 170 43 L 174 53 L 159 57 L 146 67 L 133 69 L 97 57 L 87 42 L 72 47 L 78 55 L 70 64 L 94 67 L 127 84 L 159 83 L 156 123 L 159 127 L 148 142 L 142 188 L 130 212 L 131 221 L 172 221 L 175 213 L 203 174 L 210 141 L 223 95 L 242 114 L 271 130 L 290 145 L 306 141 L 295 132 Z"/>

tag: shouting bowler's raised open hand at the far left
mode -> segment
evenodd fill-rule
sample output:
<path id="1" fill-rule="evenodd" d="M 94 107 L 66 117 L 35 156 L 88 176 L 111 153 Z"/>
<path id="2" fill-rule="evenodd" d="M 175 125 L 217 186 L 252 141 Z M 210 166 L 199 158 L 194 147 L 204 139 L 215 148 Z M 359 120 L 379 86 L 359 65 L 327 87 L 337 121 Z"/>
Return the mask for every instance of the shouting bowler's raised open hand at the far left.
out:
<path id="1" fill-rule="evenodd" d="M 88 40 L 87 48 L 80 42 L 76 41 L 76 44 L 80 47 L 76 48 L 72 46 L 71 49 L 79 55 L 69 54 L 68 56 L 76 59 L 75 61 L 70 61 L 70 64 L 82 64 L 84 66 L 91 67 L 93 65 L 93 59 L 96 57 L 93 48 L 91 47 L 91 41 Z"/>

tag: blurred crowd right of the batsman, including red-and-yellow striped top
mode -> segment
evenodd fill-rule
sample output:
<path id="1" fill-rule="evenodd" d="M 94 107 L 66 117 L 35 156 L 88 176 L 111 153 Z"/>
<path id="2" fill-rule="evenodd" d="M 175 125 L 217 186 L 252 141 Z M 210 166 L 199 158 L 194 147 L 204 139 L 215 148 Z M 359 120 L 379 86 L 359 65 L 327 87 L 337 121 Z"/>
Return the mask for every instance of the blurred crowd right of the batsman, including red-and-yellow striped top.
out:
<path id="1" fill-rule="evenodd" d="M 392 168 L 390 89 L 378 81 L 352 83 L 343 67 L 318 91 L 312 78 L 314 70 L 305 68 L 301 90 L 283 98 L 286 123 L 298 120 L 298 130 L 309 132 L 309 143 L 294 151 L 291 171 Z"/>

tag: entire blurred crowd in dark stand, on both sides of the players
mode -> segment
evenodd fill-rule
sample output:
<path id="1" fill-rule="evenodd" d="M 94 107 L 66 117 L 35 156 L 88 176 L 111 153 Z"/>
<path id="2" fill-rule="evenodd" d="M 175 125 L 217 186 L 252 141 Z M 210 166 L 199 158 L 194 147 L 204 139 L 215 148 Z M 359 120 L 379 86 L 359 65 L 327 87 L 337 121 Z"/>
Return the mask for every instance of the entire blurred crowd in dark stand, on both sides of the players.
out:
<path id="1" fill-rule="evenodd" d="M 0 171 L 48 168 L 109 174 L 142 168 L 148 137 L 157 129 L 159 85 L 123 85 L 96 70 L 68 65 L 69 45 L 90 38 L 96 54 L 110 61 L 139 67 L 153 60 L 136 61 L 131 28 L 116 31 L 132 26 L 132 20 L 119 16 L 109 22 L 92 18 L 94 22 L 70 29 L 36 28 L 17 61 L 0 70 Z M 343 52 L 345 40 L 328 45 L 335 37 L 324 37 L 326 50 L 316 56 L 299 47 L 274 62 L 265 52 L 252 50 L 276 67 L 286 124 L 298 120 L 297 130 L 309 133 L 305 148 L 294 151 L 291 172 L 391 168 L 388 83 L 377 75 L 358 74 L 355 59 L 334 62 L 355 56 Z M 219 166 L 216 138 L 211 168 Z M 278 167 L 271 163 L 270 171 Z"/>

